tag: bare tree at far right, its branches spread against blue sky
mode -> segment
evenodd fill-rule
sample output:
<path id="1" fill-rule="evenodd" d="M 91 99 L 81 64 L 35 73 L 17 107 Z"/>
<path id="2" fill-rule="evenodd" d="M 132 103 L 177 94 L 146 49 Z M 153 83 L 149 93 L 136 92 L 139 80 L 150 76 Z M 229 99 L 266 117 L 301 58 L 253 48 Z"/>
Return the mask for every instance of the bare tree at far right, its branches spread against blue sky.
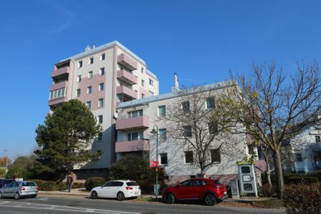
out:
<path id="1" fill-rule="evenodd" d="M 297 72 L 287 78 L 282 68 L 253 64 L 253 75 L 238 76 L 238 87 L 230 93 L 238 102 L 228 101 L 225 109 L 235 121 L 243 123 L 243 131 L 272 151 L 277 176 L 277 195 L 282 198 L 284 187 L 280 149 L 320 113 L 320 69 L 313 61 L 309 65 L 297 63 Z M 238 96 L 240 95 L 240 96 Z"/>

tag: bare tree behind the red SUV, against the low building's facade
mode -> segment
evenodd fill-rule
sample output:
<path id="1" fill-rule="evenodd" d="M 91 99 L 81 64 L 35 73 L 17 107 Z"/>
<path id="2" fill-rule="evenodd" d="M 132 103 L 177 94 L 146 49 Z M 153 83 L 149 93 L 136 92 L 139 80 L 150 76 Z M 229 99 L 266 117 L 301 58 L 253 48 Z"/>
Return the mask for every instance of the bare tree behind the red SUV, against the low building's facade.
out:
<path id="1" fill-rule="evenodd" d="M 166 106 L 166 116 L 160 120 L 165 123 L 168 136 L 193 151 L 193 164 L 204 176 L 206 168 L 220 161 L 221 154 L 231 155 L 234 148 L 235 141 L 228 135 L 235 124 L 220 108 L 224 89 L 195 86 L 177 93 L 178 97 Z"/>

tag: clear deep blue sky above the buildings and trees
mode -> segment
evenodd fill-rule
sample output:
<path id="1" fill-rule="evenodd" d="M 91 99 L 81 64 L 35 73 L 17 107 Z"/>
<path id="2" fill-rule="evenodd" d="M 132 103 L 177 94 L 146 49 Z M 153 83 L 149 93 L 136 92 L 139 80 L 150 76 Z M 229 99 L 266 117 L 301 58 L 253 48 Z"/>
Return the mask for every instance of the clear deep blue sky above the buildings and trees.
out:
<path id="1" fill-rule="evenodd" d="M 2 1 L 0 157 L 26 155 L 49 111 L 50 73 L 87 45 L 118 40 L 156 73 L 161 93 L 247 74 L 275 60 L 321 61 L 321 1 Z"/>

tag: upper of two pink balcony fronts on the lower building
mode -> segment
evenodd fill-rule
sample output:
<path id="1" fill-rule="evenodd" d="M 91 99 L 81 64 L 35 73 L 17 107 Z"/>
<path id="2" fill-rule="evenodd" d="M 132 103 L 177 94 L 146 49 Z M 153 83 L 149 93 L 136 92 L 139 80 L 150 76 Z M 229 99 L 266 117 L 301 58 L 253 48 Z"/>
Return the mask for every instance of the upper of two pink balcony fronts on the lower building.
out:
<path id="1" fill-rule="evenodd" d="M 136 118 L 118 118 L 116 121 L 116 130 L 133 130 L 149 127 L 148 116 L 140 116 Z"/>

